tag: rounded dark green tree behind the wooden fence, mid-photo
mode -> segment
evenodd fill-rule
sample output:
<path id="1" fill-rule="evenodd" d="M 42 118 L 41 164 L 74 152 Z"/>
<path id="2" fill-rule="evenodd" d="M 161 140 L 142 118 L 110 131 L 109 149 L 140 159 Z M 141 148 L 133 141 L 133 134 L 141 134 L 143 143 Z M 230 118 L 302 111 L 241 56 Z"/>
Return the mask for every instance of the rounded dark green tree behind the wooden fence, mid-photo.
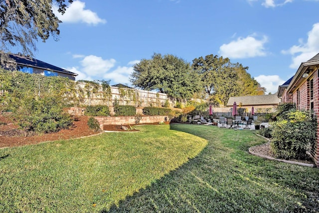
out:
<path id="1" fill-rule="evenodd" d="M 154 53 L 133 66 L 133 85 L 146 90 L 158 90 L 177 100 L 189 99 L 199 91 L 199 76 L 190 64 L 176 56 Z"/>

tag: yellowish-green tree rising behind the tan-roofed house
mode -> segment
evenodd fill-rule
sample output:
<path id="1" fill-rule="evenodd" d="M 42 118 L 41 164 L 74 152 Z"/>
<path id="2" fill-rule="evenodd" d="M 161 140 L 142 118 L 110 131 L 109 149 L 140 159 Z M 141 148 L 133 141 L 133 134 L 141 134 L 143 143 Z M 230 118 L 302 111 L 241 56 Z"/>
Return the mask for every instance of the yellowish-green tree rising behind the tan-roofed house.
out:
<path id="1" fill-rule="evenodd" d="M 226 105 L 229 97 L 264 94 L 265 88 L 247 73 L 248 67 L 228 58 L 206 55 L 193 60 L 192 68 L 203 82 L 203 89 L 216 104 Z"/>

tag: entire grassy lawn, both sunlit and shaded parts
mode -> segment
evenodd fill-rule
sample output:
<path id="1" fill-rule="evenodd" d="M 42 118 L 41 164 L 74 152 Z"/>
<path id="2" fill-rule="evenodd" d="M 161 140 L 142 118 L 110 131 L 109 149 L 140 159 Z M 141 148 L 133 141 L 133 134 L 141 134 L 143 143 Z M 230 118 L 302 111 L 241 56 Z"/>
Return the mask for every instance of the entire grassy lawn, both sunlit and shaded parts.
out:
<path id="1" fill-rule="evenodd" d="M 0 150 L 0 212 L 319 211 L 319 170 L 250 155 L 253 131 L 138 128 Z"/>

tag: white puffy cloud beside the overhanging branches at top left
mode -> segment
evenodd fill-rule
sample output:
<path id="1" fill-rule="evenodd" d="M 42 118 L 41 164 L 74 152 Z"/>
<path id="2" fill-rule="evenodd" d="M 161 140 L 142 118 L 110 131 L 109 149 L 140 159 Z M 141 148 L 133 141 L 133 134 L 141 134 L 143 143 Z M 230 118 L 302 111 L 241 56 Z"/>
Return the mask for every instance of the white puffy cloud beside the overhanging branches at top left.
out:
<path id="1" fill-rule="evenodd" d="M 101 19 L 96 12 L 89 9 L 84 9 L 85 3 L 80 0 L 75 0 L 71 3 L 62 15 L 57 11 L 57 7 L 53 6 L 54 14 L 62 22 L 77 23 L 83 22 L 88 24 L 97 25 L 99 23 L 106 23 L 105 19 Z"/>

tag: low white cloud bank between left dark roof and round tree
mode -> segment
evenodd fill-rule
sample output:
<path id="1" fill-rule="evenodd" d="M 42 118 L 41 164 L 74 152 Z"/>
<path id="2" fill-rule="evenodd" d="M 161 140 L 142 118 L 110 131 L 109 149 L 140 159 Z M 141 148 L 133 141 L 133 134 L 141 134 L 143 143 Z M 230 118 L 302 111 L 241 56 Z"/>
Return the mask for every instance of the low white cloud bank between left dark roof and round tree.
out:
<path id="1" fill-rule="evenodd" d="M 69 67 L 66 70 L 77 73 L 76 80 L 111 80 L 112 83 L 129 84 L 129 77 L 133 70 L 133 65 L 139 63 L 139 60 L 129 61 L 127 66 L 117 66 L 116 60 L 103 59 L 95 55 L 80 55 L 75 54 L 73 58 L 81 58 L 79 61 L 81 67 Z"/>

